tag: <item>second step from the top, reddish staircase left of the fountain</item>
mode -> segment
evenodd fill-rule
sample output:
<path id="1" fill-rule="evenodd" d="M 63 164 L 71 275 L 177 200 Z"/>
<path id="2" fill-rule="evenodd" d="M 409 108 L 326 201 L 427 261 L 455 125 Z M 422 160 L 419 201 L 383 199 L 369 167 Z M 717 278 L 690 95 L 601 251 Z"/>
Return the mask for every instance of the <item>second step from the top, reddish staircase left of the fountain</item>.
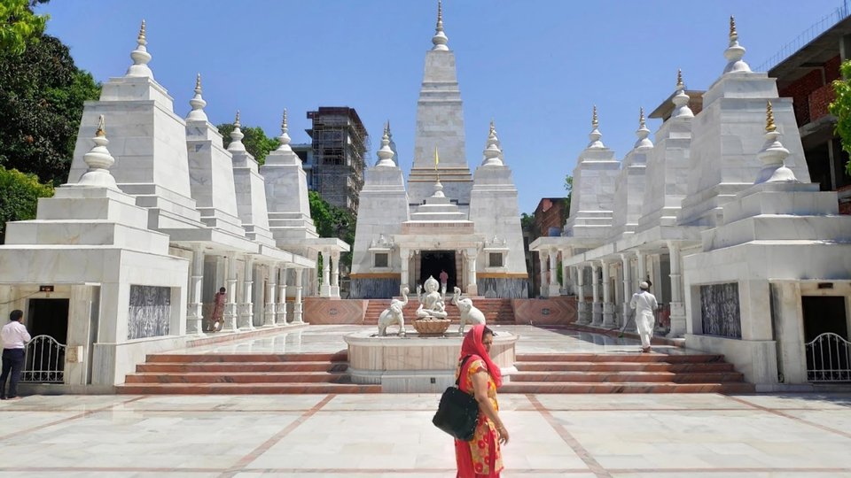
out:
<path id="1" fill-rule="evenodd" d="M 179 372 L 346 372 L 347 362 L 153 362 L 136 366 L 139 373 Z"/>

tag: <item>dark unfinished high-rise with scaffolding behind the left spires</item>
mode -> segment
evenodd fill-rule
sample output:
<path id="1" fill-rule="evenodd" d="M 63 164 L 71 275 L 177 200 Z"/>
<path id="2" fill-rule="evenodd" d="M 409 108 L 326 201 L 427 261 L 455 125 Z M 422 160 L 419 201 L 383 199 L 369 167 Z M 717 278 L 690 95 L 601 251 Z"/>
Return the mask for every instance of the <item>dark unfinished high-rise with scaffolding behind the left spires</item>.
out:
<path id="1" fill-rule="evenodd" d="M 329 204 L 357 213 L 358 195 L 363 188 L 365 156 L 369 135 L 354 108 L 320 106 L 308 112 L 313 127 L 312 189 Z"/>

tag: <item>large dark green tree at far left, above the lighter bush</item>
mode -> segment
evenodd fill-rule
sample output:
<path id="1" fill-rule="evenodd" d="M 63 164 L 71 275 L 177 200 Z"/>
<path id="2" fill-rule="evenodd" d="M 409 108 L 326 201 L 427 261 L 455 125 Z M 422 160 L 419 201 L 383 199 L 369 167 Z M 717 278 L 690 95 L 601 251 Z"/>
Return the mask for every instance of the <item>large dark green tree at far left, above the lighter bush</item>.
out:
<path id="1" fill-rule="evenodd" d="M 65 182 L 83 102 L 99 96 L 57 38 L 43 35 L 22 55 L 0 51 L 0 166 Z"/>

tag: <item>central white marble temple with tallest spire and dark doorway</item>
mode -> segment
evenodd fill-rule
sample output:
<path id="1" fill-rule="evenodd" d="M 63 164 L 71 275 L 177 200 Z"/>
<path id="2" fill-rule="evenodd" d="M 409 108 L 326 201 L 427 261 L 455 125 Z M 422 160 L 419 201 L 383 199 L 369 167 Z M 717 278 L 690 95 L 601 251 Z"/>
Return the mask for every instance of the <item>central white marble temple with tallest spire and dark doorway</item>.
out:
<path id="1" fill-rule="evenodd" d="M 405 189 L 389 125 L 366 171 L 353 248 L 351 297 L 394 297 L 429 277 L 470 296 L 528 297 L 517 189 L 491 122 L 470 173 L 455 53 L 441 5 L 417 103 L 414 161 Z M 483 128 L 484 131 L 484 128 Z"/>

